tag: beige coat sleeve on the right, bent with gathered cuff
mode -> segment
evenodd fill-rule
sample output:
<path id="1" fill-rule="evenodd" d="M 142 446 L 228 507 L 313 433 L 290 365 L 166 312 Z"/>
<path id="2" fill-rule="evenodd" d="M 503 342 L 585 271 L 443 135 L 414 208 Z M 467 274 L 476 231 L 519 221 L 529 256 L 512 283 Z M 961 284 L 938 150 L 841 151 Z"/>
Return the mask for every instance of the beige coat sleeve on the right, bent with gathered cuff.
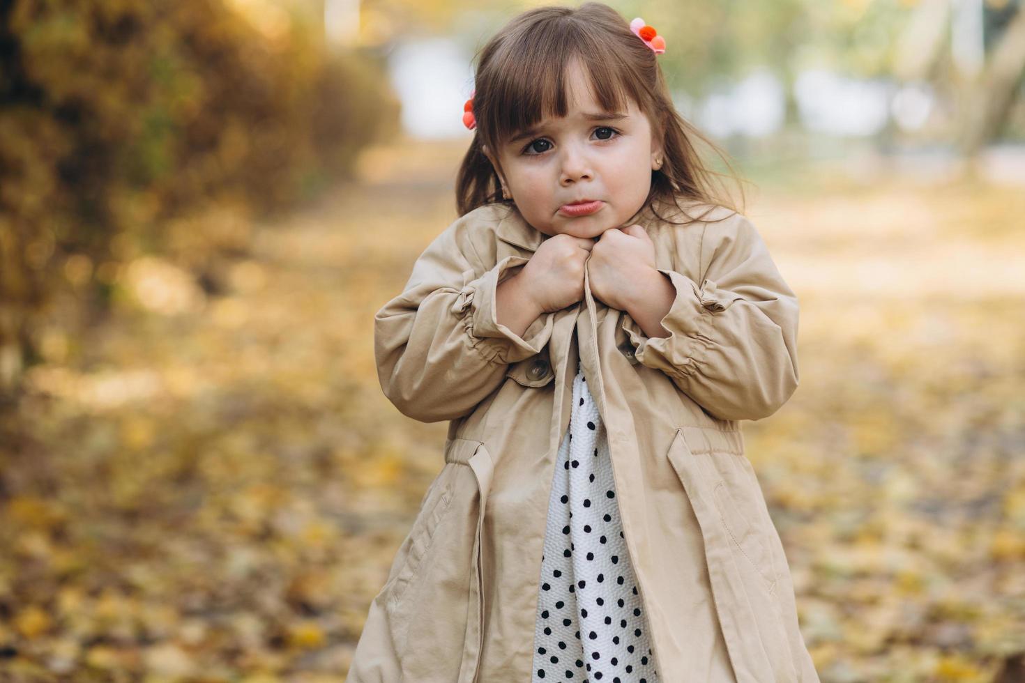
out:
<path id="1" fill-rule="evenodd" d="M 797 297 L 746 217 L 703 229 L 700 285 L 658 269 L 676 290 L 661 321 L 669 336 L 648 338 L 629 315 L 622 327 L 637 359 L 668 375 L 708 414 L 760 420 L 797 388 Z"/>

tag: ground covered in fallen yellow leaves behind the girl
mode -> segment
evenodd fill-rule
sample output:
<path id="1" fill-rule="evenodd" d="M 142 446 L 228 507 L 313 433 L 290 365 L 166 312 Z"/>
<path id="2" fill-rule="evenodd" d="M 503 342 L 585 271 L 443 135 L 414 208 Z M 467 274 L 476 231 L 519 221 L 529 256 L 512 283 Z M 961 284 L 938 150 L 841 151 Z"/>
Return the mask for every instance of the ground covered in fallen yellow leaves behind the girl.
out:
<path id="1" fill-rule="evenodd" d="M 458 146 L 371 152 L 215 296 L 139 258 L 110 321 L 47 333 L 0 431 L 0 679 L 342 680 L 443 464 L 445 425 L 380 392 L 373 313 L 454 218 Z M 1025 193 L 756 180 L 801 386 L 743 426 L 820 676 L 997 680 L 1025 652 Z"/>

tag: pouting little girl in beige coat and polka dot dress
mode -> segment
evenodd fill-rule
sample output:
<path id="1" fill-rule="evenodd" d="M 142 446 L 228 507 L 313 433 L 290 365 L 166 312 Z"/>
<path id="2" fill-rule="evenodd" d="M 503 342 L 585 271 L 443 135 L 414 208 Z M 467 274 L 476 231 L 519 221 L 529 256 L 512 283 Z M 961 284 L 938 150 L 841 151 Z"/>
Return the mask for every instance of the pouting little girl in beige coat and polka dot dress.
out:
<path id="1" fill-rule="evenodd" d="M 818 681 L 738 425 L 797 386 L 797 301 L 665 49 L 588 2 L 481 53 L 461 217 L 375 315 L 385 395 L 450 423 L 351 683 Z"/>

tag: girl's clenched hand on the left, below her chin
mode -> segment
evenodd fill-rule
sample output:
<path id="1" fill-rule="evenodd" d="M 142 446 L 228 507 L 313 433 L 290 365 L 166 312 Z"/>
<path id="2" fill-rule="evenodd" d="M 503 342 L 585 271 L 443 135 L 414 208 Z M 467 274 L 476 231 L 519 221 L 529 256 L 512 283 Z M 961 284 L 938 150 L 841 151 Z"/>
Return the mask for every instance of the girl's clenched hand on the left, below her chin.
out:
<path id="1" fill-rule="evenodd" d="M 554 234 L 537 248 L 517 278 L 542 313 L 552 313 L 583 298 L 583 263 L 593 240 Z"/>

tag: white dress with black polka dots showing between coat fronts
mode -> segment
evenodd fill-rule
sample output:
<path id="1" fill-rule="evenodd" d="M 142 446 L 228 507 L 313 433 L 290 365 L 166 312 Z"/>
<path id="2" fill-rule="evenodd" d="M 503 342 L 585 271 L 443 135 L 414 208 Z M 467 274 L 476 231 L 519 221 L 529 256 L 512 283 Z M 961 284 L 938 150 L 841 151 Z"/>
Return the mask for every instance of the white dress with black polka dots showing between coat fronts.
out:
<path id="1" fill-rule="evenodd" d="M 657 681 L 642 609 L 605 426 L 578 362 L 548 501 L 533 683 Z"/>

